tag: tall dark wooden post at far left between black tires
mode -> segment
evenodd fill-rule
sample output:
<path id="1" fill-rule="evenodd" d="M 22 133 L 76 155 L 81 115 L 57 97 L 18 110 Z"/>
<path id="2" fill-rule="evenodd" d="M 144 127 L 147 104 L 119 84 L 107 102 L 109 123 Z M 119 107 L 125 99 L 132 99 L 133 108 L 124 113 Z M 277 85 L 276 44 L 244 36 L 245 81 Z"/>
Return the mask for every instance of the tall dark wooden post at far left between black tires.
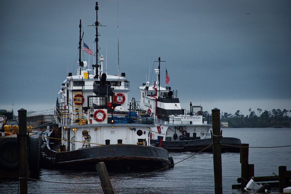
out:
<path id="1" fill-rule="evenodd" d="M 29 177 L 29 169 L 27 163 L 27 133 L 26 133 L 26 110 L 18 110 L 18 150 L 19 150 L 19 177 Z M 20 179 L 20 194 L 27 194 L 27 179 Z"/>

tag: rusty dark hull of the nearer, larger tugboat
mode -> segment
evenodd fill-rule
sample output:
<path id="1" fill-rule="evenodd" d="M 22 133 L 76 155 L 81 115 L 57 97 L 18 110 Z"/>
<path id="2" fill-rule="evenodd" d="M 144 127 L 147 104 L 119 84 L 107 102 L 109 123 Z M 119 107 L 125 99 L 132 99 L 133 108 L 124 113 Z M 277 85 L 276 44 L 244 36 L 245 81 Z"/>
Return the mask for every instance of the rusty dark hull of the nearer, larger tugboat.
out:
<path id="1" fill-rule="evenodd" d="M 170 164 L 167 150 L 142 145 L 104 145 L 68 152 L 56 152 L 45 145 L 42 146 L 42 152 L 45 152 L 45 157 L 49 158 L 43 161 L 44 166 L 57 169 L 96 170 L 95 165 L 102 161 L 108 172 L 152 171 Z"/>

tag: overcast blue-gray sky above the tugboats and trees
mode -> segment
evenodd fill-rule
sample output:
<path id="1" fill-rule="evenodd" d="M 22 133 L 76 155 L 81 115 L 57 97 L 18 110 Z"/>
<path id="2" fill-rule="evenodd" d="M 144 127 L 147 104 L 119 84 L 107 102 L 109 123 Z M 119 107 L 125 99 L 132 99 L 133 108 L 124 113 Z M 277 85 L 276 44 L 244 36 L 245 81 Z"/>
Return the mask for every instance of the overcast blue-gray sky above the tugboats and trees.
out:
<path id="1" fill-rule="evenodd" d="M 54 108 L 68 72 L 76 73 L 79 19 L 93 50 L 96 1 L 0 1 L 0 109 Z M 108 74 L 130 81 L 139 101 L 161 57 L 185 109 L 291 110 L 291 1 L 100 0 L 100 54 Z M 118 6 L 118 9 L 117 9 Z M 250 13 L 247 15 L 246 13 Z M 118 26 L 118 28 L 117 28 Z M 119 35 L 118 35 L 119 34 Z M 89 60 L 82 53 L 82 60 Z M 93 64 L 93 56 L 88 62 Z M 157 63 L 155 63 L 157 68 Z M 91 68 L 92 69 L 92 68 Z M 105 69 L 103 69 L 105 71 Z M 152 79 L 155 75 L 152 76 Z M 290 114 L 289 114 L 290 115 Z"/>

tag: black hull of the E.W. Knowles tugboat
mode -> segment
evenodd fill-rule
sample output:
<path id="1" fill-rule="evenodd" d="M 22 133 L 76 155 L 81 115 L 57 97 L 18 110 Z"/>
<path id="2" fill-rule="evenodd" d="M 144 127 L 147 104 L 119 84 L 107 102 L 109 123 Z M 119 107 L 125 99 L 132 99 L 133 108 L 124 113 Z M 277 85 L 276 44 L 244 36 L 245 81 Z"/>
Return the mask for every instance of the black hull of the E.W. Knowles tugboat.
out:
<path id="1" fill-rule="evenodd" d="M 212 144 L 211 139 L 196 139 L 183 141 L 162 141 L 161 146 L 166 147 L 169 152 L 199 152 Z M 226 145 L 222 145 L 226 144 Z M 221 153 L 234 152 L 239 153 L 241 146 L 240 139 L 233 137 L 223 137 L 221 139 Z M 213 152 L 212 146 L 203 150 L 203 152 Z"/>

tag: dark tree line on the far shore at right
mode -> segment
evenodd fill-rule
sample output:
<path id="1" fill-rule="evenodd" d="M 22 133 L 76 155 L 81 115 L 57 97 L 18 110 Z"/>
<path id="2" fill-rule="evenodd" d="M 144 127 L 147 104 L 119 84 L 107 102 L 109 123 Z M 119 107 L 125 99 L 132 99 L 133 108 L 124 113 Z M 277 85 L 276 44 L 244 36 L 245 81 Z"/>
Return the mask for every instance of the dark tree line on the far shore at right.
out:
<path id="1" fill-rule="evenodd" d="M 228 127 L 274 127 L 274 126 L 290 126 L 291 117 L 287 115 L 291 110 L 272 109 L 272 111 L 258 108 L 257 112 L 249 109 L 250 114 L 244 116 L 237 110 L 235 114 L 221 112 L 221 122 L 228 122 Z M 257 114 L 256 114 L 257 113 Z"/>

